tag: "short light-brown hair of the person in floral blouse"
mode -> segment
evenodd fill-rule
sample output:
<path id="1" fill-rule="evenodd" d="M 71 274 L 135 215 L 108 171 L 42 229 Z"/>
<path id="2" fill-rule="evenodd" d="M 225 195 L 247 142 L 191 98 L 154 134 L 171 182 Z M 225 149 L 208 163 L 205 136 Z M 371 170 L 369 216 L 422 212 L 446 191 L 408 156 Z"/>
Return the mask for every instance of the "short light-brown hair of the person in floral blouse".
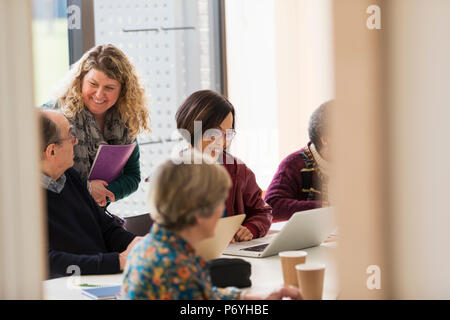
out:
<path id="1" fill-rule="evenodd" d="M 152 179 L 151 216 L 169 231 L 195 225 L 196 217 L 210 217 L 228 197 L 232 182 L 226 169 L 208 161 L 195 163 L 167 160 Z"/>

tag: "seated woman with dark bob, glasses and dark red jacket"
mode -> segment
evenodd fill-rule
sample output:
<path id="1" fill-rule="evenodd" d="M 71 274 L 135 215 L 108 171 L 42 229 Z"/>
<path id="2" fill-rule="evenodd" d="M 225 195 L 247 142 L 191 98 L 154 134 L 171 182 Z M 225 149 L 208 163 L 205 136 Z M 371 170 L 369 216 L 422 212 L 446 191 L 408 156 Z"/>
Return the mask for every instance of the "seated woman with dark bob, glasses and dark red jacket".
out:
<path id="1" fill-rule="evenodd" d="M 246 214 L 234 241 L 248 241 L 266 235 L 272 222 L 272 208 L 261 197 L 255 174 L 227 152 L 235 136 L 235 111 L 222 95 L 201 90 L 191 94 L 178 109 L 175 119 L 191 148 L 215 159 L 228 171 L 232 186 L 223 216 Z"/>

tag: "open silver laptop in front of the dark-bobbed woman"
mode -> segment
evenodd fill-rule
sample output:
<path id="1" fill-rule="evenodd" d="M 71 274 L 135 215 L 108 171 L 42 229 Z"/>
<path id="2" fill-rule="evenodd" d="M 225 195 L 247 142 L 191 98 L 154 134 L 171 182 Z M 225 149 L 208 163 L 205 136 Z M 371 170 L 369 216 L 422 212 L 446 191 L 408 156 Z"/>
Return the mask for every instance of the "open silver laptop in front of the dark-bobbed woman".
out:
<path id="1" fill-rule="evenodd" d="M 334 208 L 297 212 L 275 234 L 228 245 L 223 254 L 268 257 L 280 251 L 299 250 L 320 245 L 336 229 Z"/>

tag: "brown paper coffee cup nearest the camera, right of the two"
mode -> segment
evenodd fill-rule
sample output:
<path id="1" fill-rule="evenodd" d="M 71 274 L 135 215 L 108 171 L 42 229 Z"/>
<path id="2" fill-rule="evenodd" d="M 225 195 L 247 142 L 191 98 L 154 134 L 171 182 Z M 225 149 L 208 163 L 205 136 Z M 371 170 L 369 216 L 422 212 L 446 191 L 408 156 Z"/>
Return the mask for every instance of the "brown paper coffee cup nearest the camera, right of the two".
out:
<path id="1" fill-rule="evenodd" d="M 323 263 L 302 263 L 295 266 L 297 281 L 305 300 L 322 300 L 325 265 Z"/>

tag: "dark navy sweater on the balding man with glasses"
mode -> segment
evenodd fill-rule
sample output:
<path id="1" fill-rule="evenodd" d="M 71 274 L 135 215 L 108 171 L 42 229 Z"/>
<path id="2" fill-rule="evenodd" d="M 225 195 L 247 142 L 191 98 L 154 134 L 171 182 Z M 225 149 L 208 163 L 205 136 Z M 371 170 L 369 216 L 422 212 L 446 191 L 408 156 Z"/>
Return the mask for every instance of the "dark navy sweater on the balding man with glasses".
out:
<path id="1" fill-rule="evenodd" d="M 120 272 L 119 253 L 135 235 L 104 213 L 74 169 L 65 175 L 61 193 L 46 190 L 50 278 L 71 275 L 71 265 L 82 275 Z"/>

